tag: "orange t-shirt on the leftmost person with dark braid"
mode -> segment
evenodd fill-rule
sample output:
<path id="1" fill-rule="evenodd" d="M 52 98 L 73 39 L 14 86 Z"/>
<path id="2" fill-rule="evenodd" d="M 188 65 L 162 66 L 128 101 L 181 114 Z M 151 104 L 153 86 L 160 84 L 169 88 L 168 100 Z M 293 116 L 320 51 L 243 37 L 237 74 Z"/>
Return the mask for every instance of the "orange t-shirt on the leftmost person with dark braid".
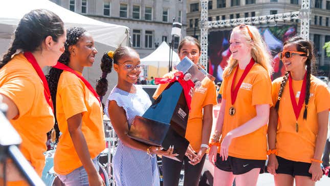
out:
<path id="1" fill-rule="evenodd" d="M 0 94 L 14 101 L 19 115 L 10 120 L 22 139 L 19 148 L 41 177 L 45 167 L 47 132 L 54 114 L 43 94 L 43 84 L 23 53 L 16 54 L 0 69 Z"/>

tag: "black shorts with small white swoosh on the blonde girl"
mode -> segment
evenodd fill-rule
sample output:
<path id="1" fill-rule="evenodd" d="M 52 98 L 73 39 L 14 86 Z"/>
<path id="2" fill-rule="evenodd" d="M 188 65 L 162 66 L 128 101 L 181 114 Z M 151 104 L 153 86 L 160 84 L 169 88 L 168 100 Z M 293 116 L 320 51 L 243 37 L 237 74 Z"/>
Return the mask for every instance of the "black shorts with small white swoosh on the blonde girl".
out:
<path id="1" fill-rule="evenodd" d="M 227 161 L 223 161 L 219 154 L 216 154 L 215 166 L 227 172 L 233 172 L 235 175 L 244 174 L 255 168 L 265 168 L 266 160 L 241 159 L 228 156 Z"/>

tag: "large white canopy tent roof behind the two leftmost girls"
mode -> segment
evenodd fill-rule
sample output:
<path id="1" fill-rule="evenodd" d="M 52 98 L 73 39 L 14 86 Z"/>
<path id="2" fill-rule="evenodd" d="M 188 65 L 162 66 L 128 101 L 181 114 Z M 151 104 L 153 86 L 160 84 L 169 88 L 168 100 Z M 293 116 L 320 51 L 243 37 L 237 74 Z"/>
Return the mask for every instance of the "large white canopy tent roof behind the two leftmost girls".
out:
<path id="1" fill-rule="evenodd" d="M 66 28 L 80 26 L 90 32 L 94 40 L 100 44 L 112 46 L 127 46 L 129 29 L 125 26 L 113 25 L 95 20 L 48 0 L 10 0 L 0 2 L 0 38 L 10 38 L 19 20 L 34 9 L 48 9 L 59 15 Z"/>

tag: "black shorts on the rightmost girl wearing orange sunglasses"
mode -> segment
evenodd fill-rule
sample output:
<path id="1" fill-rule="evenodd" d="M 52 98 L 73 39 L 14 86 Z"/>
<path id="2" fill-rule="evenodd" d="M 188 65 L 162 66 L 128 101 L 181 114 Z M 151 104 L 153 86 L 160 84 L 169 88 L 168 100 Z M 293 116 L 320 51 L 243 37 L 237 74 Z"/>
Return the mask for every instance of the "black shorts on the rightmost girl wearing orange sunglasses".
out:
<path id="1" fill-rule="evenodd" d="M 276 170 L 277 174 L 290 174 L 293 177 L 295 176 L 312 177 L 312 174 L 309 173 L 311 163 L 292 161 L 289 159 L 284 159 L 279 156 L 276 156 L 276 158 L 278 161 L 278 169 Z"/>

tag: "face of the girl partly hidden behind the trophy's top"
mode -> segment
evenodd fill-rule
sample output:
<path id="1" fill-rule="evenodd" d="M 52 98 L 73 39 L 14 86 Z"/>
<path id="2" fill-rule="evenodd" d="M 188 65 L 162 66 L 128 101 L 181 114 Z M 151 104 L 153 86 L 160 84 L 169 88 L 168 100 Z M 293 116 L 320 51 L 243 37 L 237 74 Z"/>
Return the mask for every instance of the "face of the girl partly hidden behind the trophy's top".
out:
<path id="1" fill-rule="evenodd" d="M 197 64 L 200 60 L 201 51 L 193 42 L 186 41 L 179 51 L 180 60 L 186 56 L 192 60 L 194 64 Z"/>

